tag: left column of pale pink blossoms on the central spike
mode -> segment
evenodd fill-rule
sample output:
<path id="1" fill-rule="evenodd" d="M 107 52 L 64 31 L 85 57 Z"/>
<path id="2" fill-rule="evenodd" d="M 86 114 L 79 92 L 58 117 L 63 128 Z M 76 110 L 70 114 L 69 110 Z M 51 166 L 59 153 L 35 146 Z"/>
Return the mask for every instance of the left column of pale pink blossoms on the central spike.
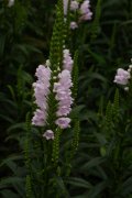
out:
<path id="1" fill-rule="evenodd" d="M 47 97 L 50 94 L 51 69 L 44 65 L 36 68 L 36 82 L 33 84 L 36 109 L 32 119 L 32 124 L 44 125 L 47 117 Z"/>

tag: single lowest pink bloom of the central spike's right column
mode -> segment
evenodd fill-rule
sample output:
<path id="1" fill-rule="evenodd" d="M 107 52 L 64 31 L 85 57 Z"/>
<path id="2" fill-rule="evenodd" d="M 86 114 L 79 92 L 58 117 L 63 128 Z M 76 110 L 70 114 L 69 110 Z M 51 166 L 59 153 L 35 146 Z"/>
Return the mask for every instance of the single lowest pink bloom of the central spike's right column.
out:
<path id="1" fill-rule="evenodd" d="M 55 122 L 57 125 L 59 125 L 61 129 L 67 129 L 69 128 L 70 119 L 69 118 L 58 118 Z"/>

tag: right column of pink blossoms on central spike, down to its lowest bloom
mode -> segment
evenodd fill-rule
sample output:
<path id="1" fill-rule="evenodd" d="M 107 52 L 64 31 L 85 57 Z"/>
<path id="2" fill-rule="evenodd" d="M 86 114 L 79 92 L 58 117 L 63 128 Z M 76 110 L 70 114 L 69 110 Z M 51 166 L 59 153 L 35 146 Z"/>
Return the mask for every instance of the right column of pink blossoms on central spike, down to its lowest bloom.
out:
<path id="1" fill-rule="evenodd" d="M 70 106 L 73 103 L 72 91 L 70 88 L 73 86 L 70 72 L 64 69 L 58 74 L 58 82 L 54 84 L 54 92 L 56 92 L 56 100 L 58 101 L 58 109 L 56 112 L 58 118 L 56 120 L 56 124 L 59 125 L 61 129 L 66 129 L 69 127 L 70 119 L 64 118 L 67 117 L 72 110 Z"/>

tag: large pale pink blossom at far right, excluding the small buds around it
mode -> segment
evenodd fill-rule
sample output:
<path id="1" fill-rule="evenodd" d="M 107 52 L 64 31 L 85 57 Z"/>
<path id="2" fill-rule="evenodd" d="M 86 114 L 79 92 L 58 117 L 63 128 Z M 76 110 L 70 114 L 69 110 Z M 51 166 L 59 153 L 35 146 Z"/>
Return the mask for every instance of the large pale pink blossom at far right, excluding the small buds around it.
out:
<path id="1" fill-rule="evenodd" d="M 129 82 L 129 79 L 130 79 L 130 73 L 122 68 L 119 68 L 117 70 L 117 75 L 113 81 L 119 85 L 127 85 Z"/>

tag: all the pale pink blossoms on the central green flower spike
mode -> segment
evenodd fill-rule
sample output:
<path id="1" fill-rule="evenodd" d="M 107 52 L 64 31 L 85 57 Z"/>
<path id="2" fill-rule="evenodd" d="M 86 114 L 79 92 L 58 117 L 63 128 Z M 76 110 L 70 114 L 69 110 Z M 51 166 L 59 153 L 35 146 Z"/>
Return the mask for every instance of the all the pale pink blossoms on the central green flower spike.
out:
<path id="1" fill-rule="evenodd" d="M 62 70 L 58 69 L 57 74 L 52 75 L 50 68 L 51 63 L 46 61 L 45 65 L 40 65 L 36 68 L 35 76 L 37 77 L 36 82 L 33 84 L 35 103 L 37 106 L 32 124 L 36 127 L 44 127 L 47 124 L 48 114 L 48 95 L 51 91 L 55 94 L 55 100 L 57 105 L 56 120 L 54 123 L 61 129 L 69 128 L 70 119 L 68 114 L 72 111 L 72 105 L 74 99 L 72 98 L 72 69 L 73 59 L 69 50 L 63 51 L 63 65 Z M 51 90 L 51 79 L 54 79 L 53 90 Z M 50 125 L 48 125 L 50 127 Z M 43 134 L 46 140 L 54 140 L 54 132 L 52 130 L 46 130 Z"/>

